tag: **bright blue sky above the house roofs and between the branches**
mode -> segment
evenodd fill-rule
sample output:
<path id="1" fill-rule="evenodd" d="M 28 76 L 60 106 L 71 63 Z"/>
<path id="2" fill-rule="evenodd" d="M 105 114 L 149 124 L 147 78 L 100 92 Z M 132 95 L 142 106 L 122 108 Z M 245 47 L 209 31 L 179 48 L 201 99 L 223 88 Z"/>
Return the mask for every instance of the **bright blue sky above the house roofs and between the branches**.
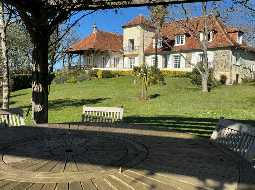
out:
<path id="1" fill-rule="evenodd" d="M 217 9 L 220 10 L 221 15 L 228 14 L 228 17 L 230 18 L 228 22 L 232 25 L 238 25 L 240 23 L 243 24 L 244 21 L 247 21 L 247 18 L 245 17 L 248 15 L 241 15 L 241 12 L 239 12 L 239 14 L 237 15 L 236 13 L 229 13 L 228 11 L 226 11 L 226 8 L 229 7 L 231 3 L 231 0 L 224 0 L 218 2 Z M 185 6 L 190 10 L 192 16 L 201 15 L 201 3 L 195 3 L 193 5 L 186 4 Z M 213 5 L 213 3 L 210 2 L 208 5 L 209 12 L 215 9 L 215 6 L 216 5 Z M 169 13 L 171 18 L 178 19 L 183 17 L 182 9 L 180 8 L 180 6 L 177 5 L 171 5 L 171 8 L 169 8 Z M 79 14 L 84 14 L 84 12 L 81 12 Z M 90 34 L 92 30 L 92 25 L 95 23 L 100 30 L 122 33 L 121 26 L 139 14 L 149 16 L 148 8 L 138 7 L 98 11 L 85 17 L 75 28 L 75 31 L 77 32 L 79 38 L 84 38 Z"/>

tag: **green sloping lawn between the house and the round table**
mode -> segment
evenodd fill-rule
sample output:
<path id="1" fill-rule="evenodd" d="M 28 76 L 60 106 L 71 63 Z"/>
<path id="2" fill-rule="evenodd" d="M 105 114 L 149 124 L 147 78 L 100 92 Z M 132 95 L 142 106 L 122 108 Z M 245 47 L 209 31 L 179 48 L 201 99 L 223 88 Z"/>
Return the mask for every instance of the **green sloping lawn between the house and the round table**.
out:
<path id="1" fill-rule="evenodd" d="M 83 105 L 123 106 L 125 122 L 209 135 L 218 118 L 255 120 L 255 85 L 220 86 L 204 94 L 186 78 L 153 86 L 149 101 L 138 99 L 132 77 L 52 85 L 49 122 L 80 121 Z M 11 107 L 27 111 L 31 89 L 12 93 Z M 29 119 L 27 122 L 30 122 Z"/>

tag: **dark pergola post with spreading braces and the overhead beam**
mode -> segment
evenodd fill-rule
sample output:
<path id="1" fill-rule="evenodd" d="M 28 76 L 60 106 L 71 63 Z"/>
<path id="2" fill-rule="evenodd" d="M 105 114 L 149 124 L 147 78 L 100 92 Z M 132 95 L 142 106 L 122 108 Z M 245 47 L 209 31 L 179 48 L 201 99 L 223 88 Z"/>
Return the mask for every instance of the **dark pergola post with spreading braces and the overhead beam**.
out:
<path id="1" fill-rule="evenodd" d="M 194 0 L 195 1 L 195 0 Z M 197 0 L 196 0 L 197 1 Z M 202 0 L 201 0 L 202 1 Z M 32 112 L 33 122 L 48 122 L 48 47 L 51 34 L 73 11 L 98 10 L 153 4 L 191 2 L 188 0 L 5 0 L 15 6 L 30 34 L 32 53 Z"/>

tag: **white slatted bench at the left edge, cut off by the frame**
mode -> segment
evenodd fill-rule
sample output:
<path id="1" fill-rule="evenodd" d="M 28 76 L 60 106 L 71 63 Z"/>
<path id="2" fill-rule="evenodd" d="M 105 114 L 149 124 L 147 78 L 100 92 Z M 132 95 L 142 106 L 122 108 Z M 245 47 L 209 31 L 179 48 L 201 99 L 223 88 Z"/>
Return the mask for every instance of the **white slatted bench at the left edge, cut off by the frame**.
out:
<path id="1" fill-rule="evenodd" d="M 23 110 L 19 108 L 0 109 L 0 125 L 2 127 L 24 126 Z"/>

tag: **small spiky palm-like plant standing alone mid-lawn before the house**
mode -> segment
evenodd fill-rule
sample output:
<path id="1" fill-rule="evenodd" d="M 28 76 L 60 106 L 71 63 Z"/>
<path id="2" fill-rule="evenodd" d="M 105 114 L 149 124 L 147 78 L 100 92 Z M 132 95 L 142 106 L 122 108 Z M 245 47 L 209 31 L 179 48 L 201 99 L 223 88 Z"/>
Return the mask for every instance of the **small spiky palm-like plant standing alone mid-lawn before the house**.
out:
<path id="1" fill-rule="evenodd" d="M 161 75 L 160 70 L 155 67 L 149 67 L 142 64 L 140 67 L 134 67 L 134 75 L 141 86 L 140 98 L 142 100 L 148 99 L 149 87 L 154 84 L 164 84 L 164 77 Z"/>

